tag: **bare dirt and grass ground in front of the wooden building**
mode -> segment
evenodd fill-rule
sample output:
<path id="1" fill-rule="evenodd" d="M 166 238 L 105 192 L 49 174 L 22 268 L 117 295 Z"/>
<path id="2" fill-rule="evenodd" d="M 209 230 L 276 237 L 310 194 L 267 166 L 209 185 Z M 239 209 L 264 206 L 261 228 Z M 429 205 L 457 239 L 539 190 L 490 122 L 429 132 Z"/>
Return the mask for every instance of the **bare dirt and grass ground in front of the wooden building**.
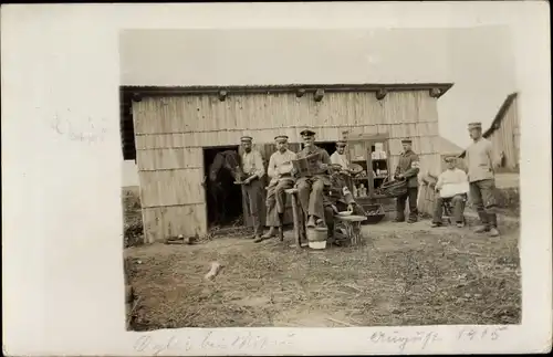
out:
<path id="1" fill-rule="evenodd" d="M 382 222 L 357 248 L 296 249 L 291 231 L 128 248 L 131 328 L 518 324 L 519 224 L 500 230 Z M 210 282 L 212 261 L 223 269 Z"/>

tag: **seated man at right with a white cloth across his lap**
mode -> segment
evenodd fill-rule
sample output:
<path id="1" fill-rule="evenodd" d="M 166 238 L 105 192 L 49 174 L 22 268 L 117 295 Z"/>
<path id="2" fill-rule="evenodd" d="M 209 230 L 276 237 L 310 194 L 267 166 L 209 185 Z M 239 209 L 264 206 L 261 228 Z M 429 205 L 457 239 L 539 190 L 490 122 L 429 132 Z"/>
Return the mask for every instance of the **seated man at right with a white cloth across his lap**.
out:
<path id="1" fill-rule="evenodd" d="M 432 227 L 441 225 L 441 216 L 444 213 L 444 201 L 451 200 L 453 207 L 453 219 L 457 227 L 463 227 L 463 210 L 467 192 L 469 191 L 469 180 L 467 174 L 457 168 L 456 157 L 446 157 L 447 170 L 438 176 L 436 182 L 436 192 L 439 193 L 434 209 Z"/>

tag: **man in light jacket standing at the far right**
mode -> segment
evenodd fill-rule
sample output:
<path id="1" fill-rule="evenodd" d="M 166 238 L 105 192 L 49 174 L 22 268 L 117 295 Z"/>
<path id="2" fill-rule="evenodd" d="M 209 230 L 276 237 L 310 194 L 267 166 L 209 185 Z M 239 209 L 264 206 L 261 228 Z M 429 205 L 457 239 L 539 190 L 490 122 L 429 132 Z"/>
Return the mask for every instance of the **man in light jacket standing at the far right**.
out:
<path id="1" fill-rule="evenodd" d="M 491 141 L 482 137 L 480 123 L 470 123 L 469 134 L 473 143 L 467 148 L 465 159 L 468 168 L 470 198 L 482 222 L 476 232 L 488 232 L 491 237 L 497 237 L 499 231 L 493 168 L 498 166 L 499 157 Z"/>

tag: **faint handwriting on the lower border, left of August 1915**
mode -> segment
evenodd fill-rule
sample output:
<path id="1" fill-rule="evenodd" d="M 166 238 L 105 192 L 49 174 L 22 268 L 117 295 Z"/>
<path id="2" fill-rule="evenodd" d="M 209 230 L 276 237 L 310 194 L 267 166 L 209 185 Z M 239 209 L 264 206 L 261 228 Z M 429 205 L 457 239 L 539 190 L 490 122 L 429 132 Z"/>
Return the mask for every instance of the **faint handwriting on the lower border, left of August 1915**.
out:
<path id="1" fill-rule="evenodd" d="M 270 338 L 251 333 L 234 336 L 218 336 L 213 332 L 207 333 L 202 338 L 192 342 L 190 337 L 177 338 L 176 336 L 154 338 L 152 335 L 140 336 L 134 344 L 136 351 L 144 351 L 158 356 L 166 351 L 188 351 L 190 349 L 264 349 L 268 347 L 292 346 L 295 334 L 288 334 L 283 338 Z"/>

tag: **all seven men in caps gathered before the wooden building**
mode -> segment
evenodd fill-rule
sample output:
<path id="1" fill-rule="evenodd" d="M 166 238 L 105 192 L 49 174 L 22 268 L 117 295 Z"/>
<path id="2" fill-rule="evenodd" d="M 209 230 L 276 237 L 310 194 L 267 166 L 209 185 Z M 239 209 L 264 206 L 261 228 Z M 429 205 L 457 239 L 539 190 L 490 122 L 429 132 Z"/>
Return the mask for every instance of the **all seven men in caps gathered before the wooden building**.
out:
<path id="1" fill-rule="evenodd" d="M 473 206 L 480 217 L 482 225 L 477 228 L 477 232 L 489 232 L 490 235 L 498 235 L 497 214 L 494 213 L 494 167 L 498 165 L 495 154 L 489 140 L 482 137 L 482 127 L 480 123 L 469 124 L 469 132 L 473 143 L 466 150 L 467 179 L 469 180 L 470 195 Z M 311 129 L 304 129 L 300 133 L 304 147 L 299 153 L 289 149 L 289 137 L 284 135 L 274 138 L 276 151 L 269 159 L 267 175 L 270 178 L 267 187 L 267 199 L 263 202 L 262 178 L 265 175 L 263 159 L 261 154 L 252 148 L 252 137 L 243 136 L 241 145 L 242 171 L 247 179 L 242 181 L 243 192 L 249 206 L 249 212 L 253 220 L 253 240 L 261 242 L 273 238 L 278 230 L 282 229 L 283 217 L 286 208 L 286 189 L 296 188 L 298 197 L 307 228 L 328 228 L 332 232 L 334 213 L 340 210 L 348 210 L 357 213 L 364 213 L 363 208 L 356 204 L 354 197 L 348 189 L 347 177 L 351 172 L 349 164 L 344 154 L 346 143 L 338 140 L 336 151 L 332 155 L 315 145 L 315 133 Z M 405 222 L 406 203 L 409 207 L 407 222 L 414 223 L 418 218 L 417 197 L 418 197 L 418 174 L 419 157 L 414 153 L 410 139 L 401 140 L 403 153 L 399 162 L 394 172 L 395 180 L 405 180 L 407 185 L 406 193 L 396 198 L 396 222 Z M 309 162 L 309 174 L 299 175 L 294 168 L 293 160 L 305 159 Z M 451 158 L 447 158 L 452 162 Z M 458 170 L 449 165 L 448 170 Z M 456 171 L 457 172 L 457 171 Z M 463 171 L 465 172 L 465 171 Z M 346 175 L 341 175 L 346 174 Z M 440 175 L 436 190 L 447 183 L 449 177 L 455 177 L 451 172 Z M 332 188 L 337 188 L 333 195 Z M 459 213 L 458 197 L 453 197 L 453 209 L 457 223 L 461 223 L 462 210 Z M 260 212 L 262 206 L 267 206 L 267 225 L 269 231 L 262 234 Z M 441 223 L 438 219 L 441 217 L 442 200 L 437 200 L 437 208 L 432 227 Z M 439 212 L 439 214 L 438 214 Z"/>

